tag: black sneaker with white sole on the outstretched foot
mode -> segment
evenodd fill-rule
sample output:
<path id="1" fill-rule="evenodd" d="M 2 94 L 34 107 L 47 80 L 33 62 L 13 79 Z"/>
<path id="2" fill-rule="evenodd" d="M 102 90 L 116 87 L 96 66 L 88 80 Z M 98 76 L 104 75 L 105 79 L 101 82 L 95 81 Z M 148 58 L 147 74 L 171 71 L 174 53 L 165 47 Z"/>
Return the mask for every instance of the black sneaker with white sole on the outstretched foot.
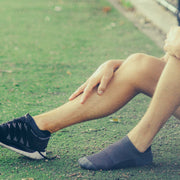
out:
<path id="1" fill-rule="evenodd" d="M 46 158 L 50 132 L 43 131 L 42 137 L 38 137 L 32 122 L 33 118 L 27 114 L 0 125 L 0 145 L 31 159 Z"/>

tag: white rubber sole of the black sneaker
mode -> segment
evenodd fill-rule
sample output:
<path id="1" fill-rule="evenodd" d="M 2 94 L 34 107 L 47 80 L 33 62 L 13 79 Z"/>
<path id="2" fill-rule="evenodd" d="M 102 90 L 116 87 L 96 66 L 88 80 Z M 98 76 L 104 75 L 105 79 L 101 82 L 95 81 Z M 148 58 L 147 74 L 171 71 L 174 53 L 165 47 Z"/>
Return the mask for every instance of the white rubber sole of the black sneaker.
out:
<path id="1" fill-rule="evenodd" d="M 21 154 L 21 155 L 23 155 L 23 156 L 29 157 L 29 158 L 31 158 L 31 159 L 44 159 L 43 156 L 46 156 L 46 152 L 41 152 L 41 154 L 43 155 L 43 156 L 41 156 L 41 154 L 40 154 L 38 151 L 35 151 L 35 152 L 33 152 L 33 153 L 25 152 L 25 151 L 16 149 L 16 148 L 14 148 L 14 147 L 8 146 L 8 145 L 6 145 L 6 144 L 3 144 L 3 143 L 1 143 L 1 142 L 0 142 L 0 146 L 3 146 L 3 147 L 5 147 L 5 148 L 7 148 L 7 149 L 10 149 L 10 150 L 12 150 L 12 151 L 15 151 L 15 152 L 17 152 L 17 153 L 19 153 L 19 154 Z"/>

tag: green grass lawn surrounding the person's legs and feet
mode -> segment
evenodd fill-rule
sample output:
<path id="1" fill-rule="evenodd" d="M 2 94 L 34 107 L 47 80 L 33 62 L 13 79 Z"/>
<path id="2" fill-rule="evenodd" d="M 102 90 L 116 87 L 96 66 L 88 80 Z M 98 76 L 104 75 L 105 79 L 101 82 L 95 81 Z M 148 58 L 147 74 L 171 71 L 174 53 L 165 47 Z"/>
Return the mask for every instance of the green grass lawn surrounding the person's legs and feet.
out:
<path id="1" fill-rule="evenodd" d="M 0 2 L 0 122 L 27 112 L 36 115 L 65 103 L 105 60 L 162 51 L 106 0 Z M 0 148 L 0 179 L 178 179 L 179 122 L 171 119 L 153 145 L 150 167 L 85 171 L 77 160 L 120 139 L 142 117 L 149 98 L 138 96 L 111 117 L 68 127 L 53 134 L 53 161 L 33 161 Z"/>

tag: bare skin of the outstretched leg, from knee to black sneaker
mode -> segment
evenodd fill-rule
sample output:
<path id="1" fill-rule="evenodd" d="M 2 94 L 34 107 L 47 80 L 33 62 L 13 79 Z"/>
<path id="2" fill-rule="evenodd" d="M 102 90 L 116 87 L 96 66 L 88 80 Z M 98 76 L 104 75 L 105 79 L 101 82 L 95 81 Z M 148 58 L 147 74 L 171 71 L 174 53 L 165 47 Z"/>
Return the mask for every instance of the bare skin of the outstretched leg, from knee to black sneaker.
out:
<path id="1" fill-rule="evenodd" d="M 163 61 L 151 56 L 132 55 L 115 72 L 102 96 L 97 95 L 94 89 L 85 104 L 80 103 L 79 96 L 55 110 L 35 116 L 36 124 L 41 130 L 53 133 L 76 123 L 109 115 L 140 92 L 152 96 L 164 65 Z"/>

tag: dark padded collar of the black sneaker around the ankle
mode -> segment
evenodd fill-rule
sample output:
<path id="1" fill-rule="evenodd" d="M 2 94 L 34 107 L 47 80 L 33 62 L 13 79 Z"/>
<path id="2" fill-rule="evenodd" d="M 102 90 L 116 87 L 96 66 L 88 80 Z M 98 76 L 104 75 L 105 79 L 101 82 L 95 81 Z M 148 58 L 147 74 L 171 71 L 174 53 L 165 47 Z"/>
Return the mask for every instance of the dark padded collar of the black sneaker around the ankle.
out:
<path id="1" fill-rule="evenodd" d="M 26 114 L 25 117 L 26 117 L 27 123 L 31 126 L 33 132 L 38 137 L 42 137 L 42 138 L 50 137 L 51 133 L 49 131 L 40 130 L 30 114 Z"/>

